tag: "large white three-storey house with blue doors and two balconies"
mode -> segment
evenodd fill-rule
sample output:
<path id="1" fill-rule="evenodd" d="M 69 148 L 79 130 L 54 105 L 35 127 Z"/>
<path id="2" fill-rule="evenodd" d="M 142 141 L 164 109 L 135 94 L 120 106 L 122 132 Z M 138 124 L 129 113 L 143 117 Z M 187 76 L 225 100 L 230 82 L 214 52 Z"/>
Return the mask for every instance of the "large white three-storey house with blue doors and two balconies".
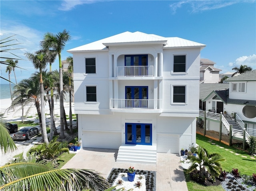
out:
<path id="1" fill-rule="evenodd" d="M 68 50 L 82 147 L 156 163 L 196 143 L 200 51 L 178 37 L 124 32 Z M 137 154 L 134 154 L 137 153 Z"/>

